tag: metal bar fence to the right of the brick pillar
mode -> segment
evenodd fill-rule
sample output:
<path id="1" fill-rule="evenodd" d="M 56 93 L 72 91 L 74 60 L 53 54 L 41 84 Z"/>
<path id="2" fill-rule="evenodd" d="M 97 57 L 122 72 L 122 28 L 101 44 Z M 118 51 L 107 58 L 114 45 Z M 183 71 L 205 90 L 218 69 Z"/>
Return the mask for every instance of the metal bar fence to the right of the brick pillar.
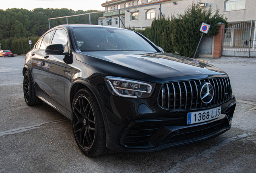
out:
<path id="1" fill-rule="evenodd" d="M 242 52 L 250 55 L 256 52 L 255 20 L 233 24 L 223 32 L 223 51 Z"/>

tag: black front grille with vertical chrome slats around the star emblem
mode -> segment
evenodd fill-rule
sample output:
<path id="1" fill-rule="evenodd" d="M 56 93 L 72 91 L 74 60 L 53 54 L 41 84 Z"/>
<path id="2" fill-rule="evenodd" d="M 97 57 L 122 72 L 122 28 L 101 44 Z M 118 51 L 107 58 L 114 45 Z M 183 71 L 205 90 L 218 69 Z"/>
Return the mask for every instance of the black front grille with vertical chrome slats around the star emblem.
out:
<path id="1" fill-rule="evenodd" d="M 200 86 L 209 82 L 213 86 L 213 100 L 205 104 L 200 98 Z M 231 97 L 229 78 L 211 78 L 169 82 L 162 85 L 158 95 L 158 103 L 167 109 L 194 109 L 205 108 L 222 103 Z"/>

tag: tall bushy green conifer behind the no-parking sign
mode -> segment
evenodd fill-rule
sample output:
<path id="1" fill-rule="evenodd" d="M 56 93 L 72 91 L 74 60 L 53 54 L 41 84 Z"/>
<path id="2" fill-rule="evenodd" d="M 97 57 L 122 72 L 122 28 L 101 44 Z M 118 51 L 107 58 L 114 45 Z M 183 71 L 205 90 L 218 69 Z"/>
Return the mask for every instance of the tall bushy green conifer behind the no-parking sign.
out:
<path id="1" fill-rule="evenodd" d="M 171 16 L 170 30 L 173 52 L 191 58 L 194 56 L 202 36 L 202 32 L 199 31 L 202 22 L 211 25 L 208 34 L 204 34 L 204 37 L 216 36 L 219 33 L 217 23 L 222 22 L 227 25 L 227 18 L 219 14 L 217 7 L 213 14 L 211 6 L 209 10 L 205 10 L 195 2 L 186 8 L 184 14 Z"/>

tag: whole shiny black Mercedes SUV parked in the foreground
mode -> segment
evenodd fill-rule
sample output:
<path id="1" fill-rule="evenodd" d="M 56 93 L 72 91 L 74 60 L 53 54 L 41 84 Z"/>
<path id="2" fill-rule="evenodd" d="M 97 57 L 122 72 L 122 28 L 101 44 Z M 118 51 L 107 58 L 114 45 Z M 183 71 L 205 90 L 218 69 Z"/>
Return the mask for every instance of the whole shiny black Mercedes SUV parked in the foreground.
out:
<path id="1" fill-rule="evenodd" d="M 44 101 L 71 119 L 87 156 L 216 137 L 231 128 L 236 105 L 223 70 L 122 28 L 56 26 L 26 54 L 23 76 L 27 105 Z"/>

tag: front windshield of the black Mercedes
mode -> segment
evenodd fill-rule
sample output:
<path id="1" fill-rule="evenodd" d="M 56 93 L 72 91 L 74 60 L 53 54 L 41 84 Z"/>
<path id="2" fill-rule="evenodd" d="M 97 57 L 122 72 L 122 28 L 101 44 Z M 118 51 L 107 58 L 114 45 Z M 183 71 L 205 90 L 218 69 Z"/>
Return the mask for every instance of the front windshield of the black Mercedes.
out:
<path id="1" fill-rule="evenodd" d="M 131 30 L 76 27 L 76 42 L 83 51 L 150 51 L 157 50 Z"/>

